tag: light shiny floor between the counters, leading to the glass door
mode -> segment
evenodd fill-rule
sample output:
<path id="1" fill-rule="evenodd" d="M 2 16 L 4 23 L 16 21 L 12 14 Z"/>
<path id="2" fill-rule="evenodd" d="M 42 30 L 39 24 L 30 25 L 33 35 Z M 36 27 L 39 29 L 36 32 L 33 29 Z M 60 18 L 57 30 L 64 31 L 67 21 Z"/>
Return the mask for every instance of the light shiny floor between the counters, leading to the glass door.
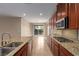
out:
<path id="1" fill-rule="evenodd" d="M 52 53 L 45 42 L 45 37 L 33 37 L 32 56 L 52 56 Z"/>

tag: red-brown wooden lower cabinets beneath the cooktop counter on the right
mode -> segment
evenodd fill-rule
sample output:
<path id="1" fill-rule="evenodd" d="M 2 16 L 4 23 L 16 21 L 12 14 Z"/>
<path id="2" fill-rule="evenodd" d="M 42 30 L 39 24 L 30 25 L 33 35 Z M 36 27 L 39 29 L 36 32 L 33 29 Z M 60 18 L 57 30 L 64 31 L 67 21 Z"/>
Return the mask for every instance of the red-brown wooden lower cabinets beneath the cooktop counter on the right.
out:
<path id="1" fill-rule="evenodd" d="M 59 43 L 57 43 L 54 39 L 52 39 L 52 54 L 54 56 L 73 56 L 68 50 L 62 47 Z"/>

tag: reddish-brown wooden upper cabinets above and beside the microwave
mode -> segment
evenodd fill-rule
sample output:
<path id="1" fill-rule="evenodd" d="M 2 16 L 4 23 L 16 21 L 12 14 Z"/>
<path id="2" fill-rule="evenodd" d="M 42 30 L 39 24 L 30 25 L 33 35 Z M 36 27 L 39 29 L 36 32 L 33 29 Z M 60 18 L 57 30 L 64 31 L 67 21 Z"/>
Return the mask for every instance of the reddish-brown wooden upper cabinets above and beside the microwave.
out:
<path id="1" fill-rule="evenodd" d="M 56 15 L 54 15 L 53 18 L 56 18 L 56 21 L 58 21 L 64 17 L 68 17 L 69 20 L 67 29 L 79 29 L 79 4 L 58 3 Z M 55 21 L 55 19 L 53 19 L 53 21 Z"/>

